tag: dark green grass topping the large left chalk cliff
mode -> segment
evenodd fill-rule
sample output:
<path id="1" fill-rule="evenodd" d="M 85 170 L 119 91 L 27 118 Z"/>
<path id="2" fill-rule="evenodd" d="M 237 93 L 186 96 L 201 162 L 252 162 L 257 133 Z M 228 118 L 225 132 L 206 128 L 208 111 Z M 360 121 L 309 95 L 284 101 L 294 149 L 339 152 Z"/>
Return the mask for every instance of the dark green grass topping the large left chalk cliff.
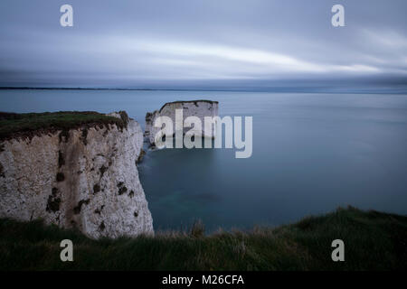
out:
<path id="1" fill-rule="evenodd" d="M 44 113 L 14 114 L 0 112 L 0 140 L 14 136 L 30 136 L 35 132 L 46 132 L 76 128 L 87 124 L 116 124 L 126 126 L 127 115 L 122 119 L 109 117 L 94 111 L 59 111 Z"/>

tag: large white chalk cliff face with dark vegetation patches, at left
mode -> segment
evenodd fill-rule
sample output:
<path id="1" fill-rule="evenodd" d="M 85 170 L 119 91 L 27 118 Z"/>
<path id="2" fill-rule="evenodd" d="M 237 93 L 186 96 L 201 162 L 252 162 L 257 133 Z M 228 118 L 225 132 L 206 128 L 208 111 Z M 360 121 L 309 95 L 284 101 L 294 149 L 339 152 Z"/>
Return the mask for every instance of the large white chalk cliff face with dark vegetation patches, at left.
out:
<path id="1" fill-rule="evenodd" d="M 153 234 L 136 166 L 142 144 L 129 118 L 125 127 L 92 124 L 0 141 L 0 217 L 41 218 L 91 238 Z"/>

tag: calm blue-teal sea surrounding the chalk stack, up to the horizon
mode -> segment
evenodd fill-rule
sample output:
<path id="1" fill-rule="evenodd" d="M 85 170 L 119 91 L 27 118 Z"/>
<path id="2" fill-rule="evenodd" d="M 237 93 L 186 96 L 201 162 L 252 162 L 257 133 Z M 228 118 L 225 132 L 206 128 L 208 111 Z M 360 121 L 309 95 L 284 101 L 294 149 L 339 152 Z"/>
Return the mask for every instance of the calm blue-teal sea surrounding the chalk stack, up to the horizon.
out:
<path id="1" fill-rule="evenodd" d="M 174 100 L 220 102 L 253 117 L 253 154 L 149 151 L 139 172 L 156 229 L 279 225 L 353 205 L 407 214 L 407 96 L 223 91 L 0 90 L 0 110 L 147 111 Z"/>

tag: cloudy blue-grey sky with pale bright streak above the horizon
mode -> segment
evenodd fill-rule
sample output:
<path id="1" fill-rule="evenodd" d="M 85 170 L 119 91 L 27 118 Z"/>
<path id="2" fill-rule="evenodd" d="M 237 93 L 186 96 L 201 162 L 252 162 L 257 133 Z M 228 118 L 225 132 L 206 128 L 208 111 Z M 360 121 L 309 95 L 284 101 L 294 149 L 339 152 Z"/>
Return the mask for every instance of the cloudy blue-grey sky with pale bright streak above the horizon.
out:
<path id="1" fill-rule="evenodd" d="M 344 27 L 331 24 L 336 4 Z M 406 85 L 406 11 L 405 0 L 2 0 L 0 86 Z"/>

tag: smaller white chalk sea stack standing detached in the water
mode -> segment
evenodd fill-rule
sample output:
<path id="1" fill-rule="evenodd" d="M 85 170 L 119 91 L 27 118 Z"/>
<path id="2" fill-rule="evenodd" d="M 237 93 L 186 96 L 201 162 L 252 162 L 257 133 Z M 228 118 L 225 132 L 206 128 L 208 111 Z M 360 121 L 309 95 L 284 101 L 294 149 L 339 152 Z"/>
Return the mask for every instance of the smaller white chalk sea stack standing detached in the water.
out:
<path id="1" fill-rule="evenodd" d="M 180 121 L 184 122 L 186 117 L 199 117 L 202 122 L 201 135 L 204 137 L 214 137 L 215 128 L 213 127 L 210 134 L 205 134 L 204 131 L 204 117 L 217 117 L 219 103 L 217 101 L 211 100 L 188 100 L 188 101 L 175 101 L 168 102 L 160 110 L 156 110 L 152 113 L 147 113 L 146 115 L 146 132 L 150 144 L 155 144 L 155 137 L 157 132 L 161 130 L 161 127 L 155 127 L 154 123 L 157 117 L 170 117 L 173 121 L 175 132 L 175 110 L 183 110 L 183 118 Z M 185 128 L 184 133 L 191 128 Z"/>

